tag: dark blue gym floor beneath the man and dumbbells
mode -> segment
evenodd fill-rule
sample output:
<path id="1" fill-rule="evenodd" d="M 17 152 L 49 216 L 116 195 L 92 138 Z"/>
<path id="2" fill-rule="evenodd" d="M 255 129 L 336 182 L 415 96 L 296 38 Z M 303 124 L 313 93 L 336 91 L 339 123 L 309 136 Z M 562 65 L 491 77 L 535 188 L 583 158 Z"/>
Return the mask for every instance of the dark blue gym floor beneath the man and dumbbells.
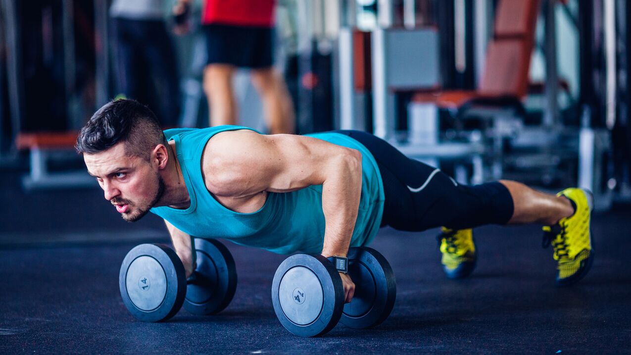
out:
<path id="1" fill-rule="evenodd" d="M 596 258 L 587 277 L 554 286 L 551 248 L 536 226 L 475 229 L 479 260 L 465 280 L 445 279 L 437 230 L 382 229 L 371 245 L 392 265 L 396 304 L 369 330 L 338 325 L 319 338 L 283 328 L 270 287 L 283 255 L 225 243 L 239 284 L 226 310 L 182 309 L 141 323 L 118 287 L 122 259 L 138 243 L 168 243 L 153 215 L 123 222 L 99 190 L 20 191 L 0 176 L 0 353 L 558 353 L 627 352 L 631 339 L 631 208 L 596 214 Z"/>

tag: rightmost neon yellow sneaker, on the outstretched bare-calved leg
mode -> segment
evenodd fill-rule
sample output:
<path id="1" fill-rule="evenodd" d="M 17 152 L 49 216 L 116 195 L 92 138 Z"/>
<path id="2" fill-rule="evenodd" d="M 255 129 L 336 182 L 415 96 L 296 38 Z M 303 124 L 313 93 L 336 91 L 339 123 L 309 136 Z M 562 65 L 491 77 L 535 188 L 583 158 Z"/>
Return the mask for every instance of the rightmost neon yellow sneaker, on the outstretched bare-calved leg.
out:
<path id="1" fill-rule="evenodd" d="M 557 196 L 565 196 L 574 206 L 574 214 L 553 226 L 543 227 L 543 248 L 552 244 L 557 260 L 557 285 L 569 286 L 581 280 L 594 261 L 589 220 L 594 206 L 591 192 L 568 188 Z"/>

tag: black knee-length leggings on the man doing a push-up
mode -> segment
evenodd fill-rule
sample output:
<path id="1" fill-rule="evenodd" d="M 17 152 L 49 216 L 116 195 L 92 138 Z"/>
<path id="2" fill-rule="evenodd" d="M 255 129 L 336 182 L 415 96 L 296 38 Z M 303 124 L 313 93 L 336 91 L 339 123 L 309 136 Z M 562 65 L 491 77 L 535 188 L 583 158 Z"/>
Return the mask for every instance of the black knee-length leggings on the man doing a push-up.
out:
<path id="1" fill-rule="evenodd" d="M 377 160 L 386 202 L 381 226 L 425 231 L 445 226 L 464 229 L 506 224 L 513 200 L 498 182 L 457 184 L 440 169 L 410 159 L 386 141 L 362 131 L 335 131 L 362 143 Z"/>

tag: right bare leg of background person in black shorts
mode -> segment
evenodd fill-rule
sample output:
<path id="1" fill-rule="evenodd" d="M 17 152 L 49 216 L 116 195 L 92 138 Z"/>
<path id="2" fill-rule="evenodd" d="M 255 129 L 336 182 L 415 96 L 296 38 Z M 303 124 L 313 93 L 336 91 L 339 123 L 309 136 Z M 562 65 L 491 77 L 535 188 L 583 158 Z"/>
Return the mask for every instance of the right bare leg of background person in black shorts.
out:
<path id="1" fill-rule="evenodd" d="M 283 76 L 273 67 L 252 69 L 252 85 L 261 96 L 269 134 L 294 133 L 292 99 Z"/>

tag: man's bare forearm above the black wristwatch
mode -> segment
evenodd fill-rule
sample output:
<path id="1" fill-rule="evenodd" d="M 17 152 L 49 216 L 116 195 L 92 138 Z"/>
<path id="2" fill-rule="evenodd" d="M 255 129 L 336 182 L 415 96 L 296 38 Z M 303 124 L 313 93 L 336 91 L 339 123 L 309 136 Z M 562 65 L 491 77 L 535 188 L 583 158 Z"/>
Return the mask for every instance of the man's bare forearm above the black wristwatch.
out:
<path id="1" fill-rule="evenodd" d="M 355 229 L 362 196 L 362 156 L 343 157 L 335 174 L 322 184 L 322 211 L 326 220 L 324 256 L 346 256 Z"/>

